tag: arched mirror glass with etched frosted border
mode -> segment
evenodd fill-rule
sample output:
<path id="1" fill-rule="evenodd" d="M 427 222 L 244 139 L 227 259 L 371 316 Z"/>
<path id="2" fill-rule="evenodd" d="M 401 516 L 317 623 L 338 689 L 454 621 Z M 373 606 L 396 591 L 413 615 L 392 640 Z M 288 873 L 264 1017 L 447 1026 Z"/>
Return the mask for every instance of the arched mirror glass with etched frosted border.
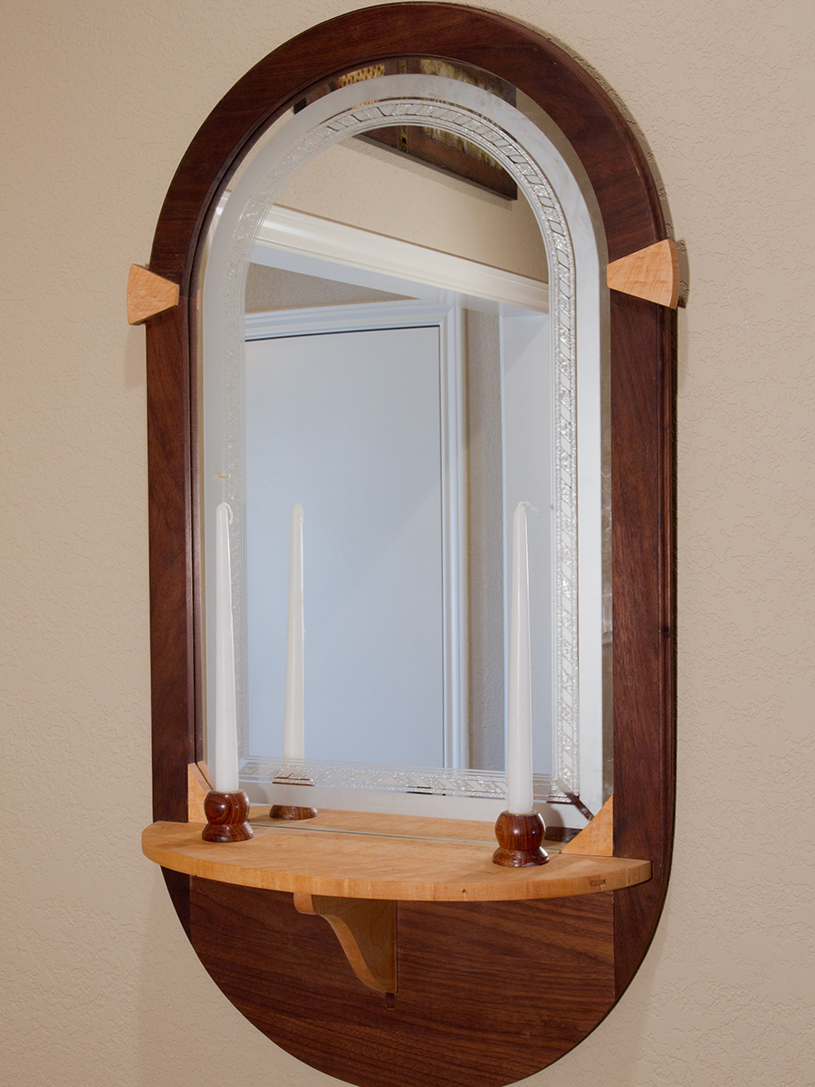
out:
<path id="1" fill-rule="evenodd" d="M 275 783 L 293 777 L 333 788 L 333 807 L 365 807 L 363 792 L 375 810 L 421 794 L 494 807 L 512 518 L 526 502 L 536 800 L 588 814 L 611 791 L 612 755 L 591 195 L 514 88 L 400 63 L 319 88 L 278 120 L 210 232 L 206 705 L 226 500 L 250 797 L 279 801 Z M 304 749 L 284 759 L 297 504 Z"/>

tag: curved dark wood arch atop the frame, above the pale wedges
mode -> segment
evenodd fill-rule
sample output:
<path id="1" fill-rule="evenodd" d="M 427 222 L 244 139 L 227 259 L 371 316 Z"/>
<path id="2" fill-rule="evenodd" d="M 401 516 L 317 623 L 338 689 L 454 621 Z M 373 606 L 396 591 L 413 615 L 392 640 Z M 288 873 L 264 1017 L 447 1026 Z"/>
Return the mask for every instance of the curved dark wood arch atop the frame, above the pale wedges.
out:
<path id="1" fill-rule="evenodd" d="M 394 57 L 474 64 L 513 83 L 560 126 L 600 203 L 616 260 L 662 240 L 662 209 L 645 158 L 619 110 L 579 63 L 538 33 L 452 3 L 383 4 L 312 27 L 261 60 L 224 97 L 190 143 L 171 185 L 150 267 L 181 274 L 240 154 L 285 109 L 326 79 Z"/>

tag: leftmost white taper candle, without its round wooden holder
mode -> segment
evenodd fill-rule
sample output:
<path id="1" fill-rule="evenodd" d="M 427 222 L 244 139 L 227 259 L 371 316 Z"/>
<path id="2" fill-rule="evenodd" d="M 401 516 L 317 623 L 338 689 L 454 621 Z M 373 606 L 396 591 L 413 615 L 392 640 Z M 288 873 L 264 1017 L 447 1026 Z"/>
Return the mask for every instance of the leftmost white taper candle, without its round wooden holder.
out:
<path id="1" fill-rule="evenodd" d="M 229 522 L 233 511 L 222 502 L 215 510 L 215 771 L 217 792 L 237 792 L 238 719 L 235 709 L 235 639 Z"/>

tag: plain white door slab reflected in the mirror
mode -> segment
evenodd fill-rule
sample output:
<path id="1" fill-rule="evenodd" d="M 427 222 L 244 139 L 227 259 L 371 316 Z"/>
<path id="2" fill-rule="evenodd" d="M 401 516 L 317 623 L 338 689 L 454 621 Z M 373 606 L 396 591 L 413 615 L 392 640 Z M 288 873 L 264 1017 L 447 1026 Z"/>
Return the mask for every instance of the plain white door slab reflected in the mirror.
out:
<path id="1" fill-rule="evenodd" d="M 443 764 L 438 328 L 246 346 L 249 749 L 283 749 L 305 512 L 306 758 Z"/>

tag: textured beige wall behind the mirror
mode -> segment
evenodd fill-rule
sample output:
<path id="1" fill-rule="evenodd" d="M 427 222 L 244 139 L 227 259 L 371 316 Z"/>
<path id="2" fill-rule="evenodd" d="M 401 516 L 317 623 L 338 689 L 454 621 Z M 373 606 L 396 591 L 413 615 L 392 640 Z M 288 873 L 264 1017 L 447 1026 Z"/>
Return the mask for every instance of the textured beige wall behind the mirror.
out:
<path id="1" fill-rule="evenodd" d="M 3 14 L 0 1082 L 331 1080 L 208 980 L 150 816 L 143 330 L 124 322 L 206 112 L 341 0 L 28 0 Z M 805 1087 L 812 999 L 813 72 L 808 2 L 503 0 L 648 136 L 679 318 L 679 804 L 654 945 L 530 1083 Z"/>

